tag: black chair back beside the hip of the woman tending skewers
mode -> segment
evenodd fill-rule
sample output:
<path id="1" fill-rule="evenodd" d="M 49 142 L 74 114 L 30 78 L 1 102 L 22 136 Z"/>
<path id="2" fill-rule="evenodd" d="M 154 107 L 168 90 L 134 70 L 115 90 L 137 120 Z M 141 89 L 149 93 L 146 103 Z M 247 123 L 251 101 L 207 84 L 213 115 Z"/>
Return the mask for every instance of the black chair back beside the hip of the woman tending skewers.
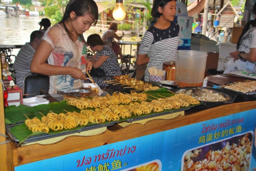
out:
<path id="1" fill-rule="evenodd" d="M 35 97 L 40 95 L 39 89 L 49 91 L 50 79 L 48 75 L 41 75 L 36 73 L 28 73 L 23 78 L 23 98 Z M 24 94 L 33 94 L 24 96 Z"/>

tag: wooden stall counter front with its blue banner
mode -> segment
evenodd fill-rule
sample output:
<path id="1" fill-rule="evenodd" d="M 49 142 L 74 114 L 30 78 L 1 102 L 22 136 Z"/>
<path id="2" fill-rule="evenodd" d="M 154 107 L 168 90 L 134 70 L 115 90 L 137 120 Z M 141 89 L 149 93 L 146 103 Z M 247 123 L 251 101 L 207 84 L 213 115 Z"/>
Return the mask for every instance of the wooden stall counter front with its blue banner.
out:
<path id="1" fill-rule="evenodd" d="M 213 151 L 227 148 L 230 150 L 226 152 L 231 153 L 231 144 L 240 148 L 243 142 L 252 150 L 245 154 L 247 164 L 237 167 L 250 170 L 256 164 L 253 158 L 256 154 L 253 146 L 256 123 L 251 122 L 256 119 L 255 106 L 256 101 L 246 101 L 207 110 L 190 109 L 194 112 L 185 113 L 185 116 L 178 114 L 172 119 L 141 120 L 141 123 L 122 127 L 115 124 L 97 135 L 73 135 L 46 145 L 16 147 L 9 142 L 6 144 L 5 168 L 30 171 L 44 165 L 38 171 L 89 171 L 93 168 L 98 171 L 102 167 L 116 171 L 143 171 L 146 167 L 186 171 L 191 159 L 194 167 L 209 155 L 210 146 Z M 209 169 L 208 166 L 204 169 Z"/>

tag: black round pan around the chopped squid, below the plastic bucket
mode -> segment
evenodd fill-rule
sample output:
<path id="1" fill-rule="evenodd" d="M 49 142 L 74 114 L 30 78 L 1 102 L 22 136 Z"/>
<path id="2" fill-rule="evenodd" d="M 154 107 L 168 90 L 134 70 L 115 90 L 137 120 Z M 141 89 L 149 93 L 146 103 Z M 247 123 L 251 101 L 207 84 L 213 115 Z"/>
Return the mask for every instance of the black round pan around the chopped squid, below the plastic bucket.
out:
<path id="1" fill-rule="evenodd" d="M 175 89 L 174 92 L 177 93 L 180 90 L 193 90 L 193 89 L 196 89 L 196 88 L 200 88 L 200 89 L 203 89 L 203 90 L 204 89 L 212 90 L 214 93 L 219 93 L 219 94 L 225 96 L 226 99 L 228 98 L 228 100 L 226 100 L 226 101 L 201 101 L 201 102 L 204 103 L 204 105 L 193 107 L 195 109 L 205 110 L 205 109 L 209 109 L 209 108 L 212 108 L 212 107 L 221 106 L 221 105 L 224 105 L 224 104 L 230 104 L 230 103 L 233 103 L 234 100 L 236 99 L 236 94 L 235 93 L 232 93 L 232 92 L 229 92 L 229 91 L 226 91 L 226 90 L 219 90 L 219 89 L 208 88 L 208 87 L 178 88 L 178 89 Z"/>

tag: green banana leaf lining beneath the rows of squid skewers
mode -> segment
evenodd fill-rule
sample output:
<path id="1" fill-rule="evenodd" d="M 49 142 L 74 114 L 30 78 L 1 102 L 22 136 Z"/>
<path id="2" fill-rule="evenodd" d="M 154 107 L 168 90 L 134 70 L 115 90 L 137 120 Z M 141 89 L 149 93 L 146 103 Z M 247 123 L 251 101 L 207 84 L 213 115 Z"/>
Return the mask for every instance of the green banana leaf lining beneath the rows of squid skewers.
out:
<path id="1" fill-rule="evenodd" d="M 151 96 L 148 96 L 148 99 L 156 99 L 154 97 L 163 98 L 161 96 L 170 97 L 170 96 L 174 95 L 173 93 L 169 92 L 165 88 L 161 88 L 161 89 L 158 89 L 158 90 L 151 90 L 151 91 L 147 91 L 145 93 L 147 93 L 148 95 L 151 95 Z M 158 96 L 158 95 L 161 95 L 161 96 Z M 154 96 L 154 97 L 152 97 L 152 96 Z M 151 100 L 147 100 L 147 101 L 151 101 Z M 78 109 L 74 106 L 67 105 L 66 102 L 67 101 L 54 102 L 54 103 L 49 103 L 49 104 L 41 104 L 41 105 L 38 105 L 38 106 L 35 106 L 35 107 L 28 107 L 28 106 L 25 106 L 25 105 L 20 105 L 18 107 L 9 106 L 5 110 L 5 112 L 6 112 L 6 121 L 7 121 L 6 123 L 9 122 L 9 123 L 14 124 L 14 123 L 17 123 L 17 122 L 20 122 L 20 121 L 24 121 L 24 120 L 26 120 L 26 117 L 24 116 L 24 114 L 26 114 L 26 116 L 28 116 L 30 119 L 32 119 L 34 117 L 38 117 L 39 119 L 41 119 L 42 115 L 39 112 L 47 115 L 47 113 L 49 113 L 49 110 L 51 110 L 54 113 L 64 113 L 64 110 L 67 110 L 67 111 L 70 111 L 70 112 L 73 112 L 73 111 L 80 112 L 81 111 L 80 109 Z M 202 104 L 202 103 L 200 103 L 200 104 Z M 163 110 L 162 112 L 160 112 L 158 114 L 172 113 L 175 110 L 178 110 L 178 111 L 186 110 L 186 109 L 189 109 L 190 107 L 194 107 L 194 106 L 197 106 L 197 105 L 200 105 L 200 104 L 193 104 L 193 105 L 191 104 L 188 107 L 180 107 L 180 109 Z M 87 109 L 95 110 L 94 108 L 87 108 Z M 132 116 L 130 118 L 125 118 L 125 119 L 120 118 L 118 122 L 123 122 L 123 121 L 126 121 L 128 119 L 137 119 L 137 118 L 140 118 L 140 117 L 145 117 L 145 116 L 154 115 L 154 114 L 156 114 L 156 113 L 153 112 L 153 111 L 151 113 L 149 113 L 148 115 L 135 116 L 134 114 L 132 114 Z M 107 125 L 107 124 L 110 124 L 110 123 L 113 123 L 113 122 L 116 122 L 116 121 L 109 122 L 109 121 L 106 120 L 105 122 L 100 123 L 100 124 Z M 79 130 L 81 128 L 90 127 L 90 125 L 95 125 L 95 124 L 97 124 L 97 123 L 89 123 L 88 125 L 85 125 L 85 126 L 84 125 L 83 126 L 79 125 L 76 128 L 68 129 L 68 130 L 66 130 L 66 129 L 57 130 L 57 131 L 49 130 L 49 134 L 59 134 L 59 133 L 63 133 L 63 132 Z M 29 138 L 29 136 L 35 136 L 35 135 L 40 135 L 40 134 L 44 133 L 44 132 L 32 133 L 32 131 L 29 130 L 29 128 L 26 126 L 25 123 L 22 123 L 20 125 L 15 126 L 10 131 L 20 141 L 20 143 L 25 141 L 27 138 Z"/>

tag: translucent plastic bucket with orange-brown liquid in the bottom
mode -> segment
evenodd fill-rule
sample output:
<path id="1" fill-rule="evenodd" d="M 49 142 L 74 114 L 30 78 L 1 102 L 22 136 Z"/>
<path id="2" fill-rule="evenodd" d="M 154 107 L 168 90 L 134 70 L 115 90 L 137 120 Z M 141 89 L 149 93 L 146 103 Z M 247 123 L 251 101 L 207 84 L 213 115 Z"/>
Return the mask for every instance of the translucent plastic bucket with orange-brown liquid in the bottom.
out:
<path id="1" fill-rule="evenodd" d="M 179 87 L 202 87 L 207 52 L 178 50 L 176 54 L 175 84 Z"/>

